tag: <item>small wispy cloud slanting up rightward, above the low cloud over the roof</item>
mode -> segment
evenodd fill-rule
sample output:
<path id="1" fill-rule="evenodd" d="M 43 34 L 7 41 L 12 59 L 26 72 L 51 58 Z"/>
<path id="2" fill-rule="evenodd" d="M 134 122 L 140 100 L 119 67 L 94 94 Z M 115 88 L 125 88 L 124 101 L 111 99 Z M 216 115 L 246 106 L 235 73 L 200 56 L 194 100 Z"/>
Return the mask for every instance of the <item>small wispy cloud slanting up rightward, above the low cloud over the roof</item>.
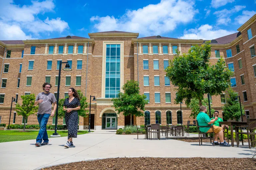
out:
<path id="1" fill-rule="evenodd" d="M 246 8 L 246 6 L 236 5 L 230 10 L 223 9 L 220 11 L 215 11 L 213 14 L 218 18 L 217 25 L 228 25 L 231 22 L 230 16 L 244 8 Z"/>

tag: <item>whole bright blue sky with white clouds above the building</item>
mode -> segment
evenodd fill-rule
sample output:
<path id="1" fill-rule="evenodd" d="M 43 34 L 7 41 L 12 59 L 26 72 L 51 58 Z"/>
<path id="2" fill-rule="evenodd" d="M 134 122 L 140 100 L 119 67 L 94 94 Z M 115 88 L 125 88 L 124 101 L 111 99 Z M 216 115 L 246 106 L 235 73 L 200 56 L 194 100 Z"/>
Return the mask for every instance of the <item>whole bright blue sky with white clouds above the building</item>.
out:
<path id="1" fill-rule="evenodd" d="M 255 13 L 256 0 L 0 0 L 0 40 L 114 30 L 211 40 L 237 32 Z"/>

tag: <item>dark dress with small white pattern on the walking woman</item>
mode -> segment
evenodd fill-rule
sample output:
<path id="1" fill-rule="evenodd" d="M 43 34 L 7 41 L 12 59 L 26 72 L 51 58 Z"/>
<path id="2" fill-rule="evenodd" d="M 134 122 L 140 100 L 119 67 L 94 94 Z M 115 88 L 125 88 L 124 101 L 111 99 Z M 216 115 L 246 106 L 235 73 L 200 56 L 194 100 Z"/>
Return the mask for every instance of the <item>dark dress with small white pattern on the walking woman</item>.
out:
<path id="1" fill-rule="evenodd" d="M 65 99 L 63 106 L 66 108 L 76 108 L 80 106 L 80 101 L 78 98 L 74 98 L 70 103 L 68 98 Z M 71 112 L 65 113 L 65 121 L 68 128 L 68 139 L 77 137 L 77 125 L 78 125 L 78 113 L 77 110 L 72 110 Z"/>

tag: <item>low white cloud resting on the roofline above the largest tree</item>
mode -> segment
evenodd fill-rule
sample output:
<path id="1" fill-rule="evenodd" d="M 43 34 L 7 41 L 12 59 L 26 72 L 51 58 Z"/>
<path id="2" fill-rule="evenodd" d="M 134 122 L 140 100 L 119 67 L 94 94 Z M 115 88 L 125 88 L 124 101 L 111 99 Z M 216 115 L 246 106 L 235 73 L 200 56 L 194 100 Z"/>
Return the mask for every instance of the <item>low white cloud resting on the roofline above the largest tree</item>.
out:
<path id="1" fill-rule="evenodd" d="M 189 29 L 187 31 L 184 31 L 184 35 L 179 37 L 179 39 L 213 40 L 216 38 L 233 34 L 235 32 L 236 31 L 213 29 L 211 25 L 205 24 L 205 25 L 201 25 L 199 28 Z"/>

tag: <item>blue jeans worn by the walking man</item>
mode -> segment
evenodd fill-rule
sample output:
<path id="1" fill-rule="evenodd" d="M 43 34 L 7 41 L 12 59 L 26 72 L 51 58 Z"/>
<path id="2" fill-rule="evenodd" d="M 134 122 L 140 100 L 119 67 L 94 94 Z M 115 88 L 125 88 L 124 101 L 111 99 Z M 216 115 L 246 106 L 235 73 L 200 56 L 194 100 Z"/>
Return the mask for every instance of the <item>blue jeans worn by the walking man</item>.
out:
<path id="1" fill-rule="evenodd" d="M 40 125 L 40 130 L 38 132 L 36 142 L 42 143 L 42 139 L 46 143 L 49 142 L 48 134 L 47 134 L 47 131 L 46 131 L 46 125 L 47 125 L 49 117 L 50 117 L 50 114 L 43 114 L 43 115 L 37 114 L 37 120 L 38 120 L 38 123 Z"/>

